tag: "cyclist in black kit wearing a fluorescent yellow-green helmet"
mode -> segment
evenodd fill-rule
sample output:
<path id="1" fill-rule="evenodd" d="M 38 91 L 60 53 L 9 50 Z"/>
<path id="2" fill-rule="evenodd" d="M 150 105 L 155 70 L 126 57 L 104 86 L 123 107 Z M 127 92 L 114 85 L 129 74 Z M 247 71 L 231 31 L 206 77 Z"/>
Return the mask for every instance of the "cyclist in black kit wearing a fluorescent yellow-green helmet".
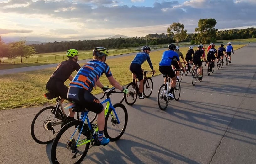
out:
<path id="1" fill-rule="evenodd" d="M 75 70 L 78 71 L 80 69 L 80 65 L 77 63 L 78 59 L 78 51 L 76 49 L 67 50 L 68 60 L 62 61 L 58 64 L 56 70 L 51 75 L 50 79 L 46 83 L 46 89 L 50 90 L 56 94 L 58 94 L 62 99 L 61 103 L 66 99 L 67 100 L 67 91 L 68 87 L 64 84 L 64 82 L 69 79 L 73 80 L 72 72 Z M 72 104 L 72 103 L 70 103 Z M 69 111 L 72 109 L 70 108 Z M 52 111 L 51 111 L 52 112 Z M 61 119 L 59 113 L 56 113 L 55 117 L 57 119 Z M 71 118 L 68 116 L 64 122 L 65 124 L 75 120 L 74 117 Z"/>

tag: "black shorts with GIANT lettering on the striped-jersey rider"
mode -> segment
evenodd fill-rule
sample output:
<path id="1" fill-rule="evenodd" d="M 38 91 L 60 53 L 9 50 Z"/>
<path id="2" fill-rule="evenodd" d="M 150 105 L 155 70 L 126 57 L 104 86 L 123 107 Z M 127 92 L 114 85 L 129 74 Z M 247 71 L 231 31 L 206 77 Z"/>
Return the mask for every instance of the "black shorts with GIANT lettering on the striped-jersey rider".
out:
<path id="1" fill-rule="evenodd" d="M 70 87 L 67 93 L 67 99 L 97 114 L 101 113 L 104 109 L 98 98 L 88 90 L 82 88 Z"/>

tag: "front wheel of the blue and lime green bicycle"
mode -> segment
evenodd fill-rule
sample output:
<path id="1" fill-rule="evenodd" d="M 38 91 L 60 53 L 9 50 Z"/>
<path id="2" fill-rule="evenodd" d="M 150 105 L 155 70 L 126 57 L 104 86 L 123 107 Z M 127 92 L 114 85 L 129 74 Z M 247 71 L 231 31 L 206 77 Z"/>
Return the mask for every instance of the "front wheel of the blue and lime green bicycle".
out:
<path id="1" fill-rule="evenodd" d="M 128 113 L 125 106 L 121 103 L 116 103 L 113 105 L 113 107 L 114 111 L 112 108 L 110 108 L 108 114 L 106 115 L 104 129 L 105 137 L 109 138 L 111 142 L 120 139 L 125 132 L 128 122 Z M 117 118 L 120 123 L 118 123 Z"/>

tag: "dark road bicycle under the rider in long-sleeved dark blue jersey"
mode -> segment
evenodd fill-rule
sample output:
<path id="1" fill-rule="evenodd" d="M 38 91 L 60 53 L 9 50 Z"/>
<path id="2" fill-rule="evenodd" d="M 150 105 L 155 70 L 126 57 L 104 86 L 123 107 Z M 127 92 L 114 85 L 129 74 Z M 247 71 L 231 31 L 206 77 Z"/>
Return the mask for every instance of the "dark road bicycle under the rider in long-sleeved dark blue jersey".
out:
<path id="1" fill-rule="evenodd" d="M 143 78 L 143 95 L 146 98 L 149 98 L 153 91 L 153 81 L 150 77 L 147 77 L 148 72 L 153 72 L 153 71 L 143 71 L 143 76 L 144 76 L 144 78 Z M 153 72 L 152 76 L 154 76 L 154 72 Z M 133 105 L 135 103 L 135 101 L 137 100 L 137 97 L 139 94 L 139 86 L 138 86 L 138 81 L 137 81 L 136 75 L 135 75 L 135 82 L 130 82 L 126 88 L 128 89 L 129 92 L 127 95 L 124 95 L 124 97 L 120 101 L 120 103 L 122 103 L 123 100 L 125 100 L 127 105 Z"/>

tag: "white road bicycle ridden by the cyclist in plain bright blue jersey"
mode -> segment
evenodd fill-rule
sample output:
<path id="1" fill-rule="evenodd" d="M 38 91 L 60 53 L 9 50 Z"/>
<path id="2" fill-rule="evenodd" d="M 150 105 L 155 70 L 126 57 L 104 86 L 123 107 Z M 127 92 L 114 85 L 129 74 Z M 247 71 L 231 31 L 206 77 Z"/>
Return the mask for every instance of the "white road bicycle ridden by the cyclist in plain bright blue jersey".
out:
<path id="1" fill-rule="evenodd" d="M 178 69 L 176 71 L 180 71 L 182 69 Z M 171 78 L 167 75 L 163 75 L 166 79 L 166 83 L 162 84 L 158 90 L 157 94 L 157 103 L 161 110 L 165 110 L 168 106 L 169 100 L 171 99 L 168 95 L 171 90 Z M 180 81 L 179 79 L 176 79 L 176 84 L 173 90 L 173 96 L 176 101 L 180 98 Z"/>

